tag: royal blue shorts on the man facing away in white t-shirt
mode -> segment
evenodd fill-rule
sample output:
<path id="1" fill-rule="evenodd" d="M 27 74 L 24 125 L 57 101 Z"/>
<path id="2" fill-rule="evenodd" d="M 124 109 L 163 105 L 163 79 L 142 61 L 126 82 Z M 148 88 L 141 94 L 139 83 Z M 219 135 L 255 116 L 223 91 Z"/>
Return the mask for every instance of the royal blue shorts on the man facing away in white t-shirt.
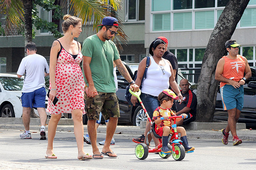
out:
<path id="1" fill-rule="evenodd" d="M 45 108 L 46 90 L 44 87 L 35 90 L 34 92 L 22 93 L 22 107 L 30 108 Z"/>

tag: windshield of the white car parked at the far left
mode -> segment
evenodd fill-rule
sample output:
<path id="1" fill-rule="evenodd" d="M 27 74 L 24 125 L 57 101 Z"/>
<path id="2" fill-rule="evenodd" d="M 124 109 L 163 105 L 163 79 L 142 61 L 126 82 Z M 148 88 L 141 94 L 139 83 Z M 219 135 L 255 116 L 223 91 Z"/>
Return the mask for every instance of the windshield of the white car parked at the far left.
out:
<path id="1" fill-rule="evenodd" d="M 22 90 L 23 78 L 0 77 L 0 82 L 5 90 Z"/>

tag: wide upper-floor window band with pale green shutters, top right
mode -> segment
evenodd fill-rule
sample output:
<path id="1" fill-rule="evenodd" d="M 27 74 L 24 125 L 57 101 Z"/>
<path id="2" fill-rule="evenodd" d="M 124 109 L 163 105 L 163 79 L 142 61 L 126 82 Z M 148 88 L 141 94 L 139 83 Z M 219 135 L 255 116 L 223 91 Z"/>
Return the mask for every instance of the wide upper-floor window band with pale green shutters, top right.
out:
<path id="1" fill-rule="evenodd" d="M 152 31 L 209 30 L 229 0 L 151 0 Z M 163 5 L 164 4 L 164 5 Z M 237 28 L 256 27 L 256 0 L 251 0 Z"/>

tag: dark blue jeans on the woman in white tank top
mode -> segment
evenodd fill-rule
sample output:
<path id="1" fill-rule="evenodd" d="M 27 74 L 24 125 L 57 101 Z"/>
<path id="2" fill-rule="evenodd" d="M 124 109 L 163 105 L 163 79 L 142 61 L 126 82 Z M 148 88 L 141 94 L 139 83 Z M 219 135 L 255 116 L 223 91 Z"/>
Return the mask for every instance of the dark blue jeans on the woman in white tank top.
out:
<path id="1" fill-rule="evenodd" d="M 141 93 L 140 99 L 142 100 L 142 103 L 143 103 L 144 107 L 146 108 L 150 119 L 152 120 L 153 113 L 154 113 L 155 109 L 158 106 L 160 106 L 160 103 L 158 101 L 158 96 L 152 96 L 150 94 Z"/>

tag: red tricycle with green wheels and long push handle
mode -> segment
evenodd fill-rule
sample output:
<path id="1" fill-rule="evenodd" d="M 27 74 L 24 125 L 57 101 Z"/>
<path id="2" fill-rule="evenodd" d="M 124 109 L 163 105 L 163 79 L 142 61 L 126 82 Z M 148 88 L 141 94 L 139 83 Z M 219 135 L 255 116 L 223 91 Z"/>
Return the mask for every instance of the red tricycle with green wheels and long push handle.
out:
<path id="1" fill-rule="evenodd" d="M 183 118 L 183 116 L 171 116 L 169 117 L 169 119 L 174 119 L 174 124 L 172 125 L 172 128 L 174 130 L 174 134 L 172 136 L 169 136 L 169 143 L 167 145 L 167 147 L 172 150 L 172 153 L 164 153 L 161 151 L 162 148 L 162 136 L 159 136 L 156 132 L 155 132 L 155 122 L 152 122 L 150 117 L 148 116 L 148 113 L 140 99 L 140 93 L 141 91 L 139 90 L 138 92 L 132 92 L 131 89 L 129 89 L 129 92 L 138 98 L 138 100 L 140 101 L 140 104 L 142 105 L 142 108 L 144 110 L 144 112 L 147 115 L 147 118 L 151 124 L 152 127 L 152 132 L 153 135 L 155 136 L 155 138 L 157 138 L 159 140 L 159 144 L 157 147 L 153 148 L 153 149 L 148 149 L 148 146 L 145 143 L 139 143 L 137 144 L 137 146 L 135 147 L 135 155 L 138 159 L 146 159 L 148 156 L 148 153 L 155 153 L 158 152 L 161 158 L 169 158 L 170 155 L 172 154 L 173 159 L 175 159 L 176 161 L 181 161 L 182 159 L 185 158 L 185 148 L 182 146 L 182 141 L 178 139 L 178 132 L 177 132 L 177 125 L 176 125 L 176 118 Z M 161 117 L 161 119 L 163 120 L 164 118 Z M 145 139 L 147 139 L 147 135 L 145 137 Z M 171 145 L 171 144 L 172 145 Z M 193 151 L 189 151 L 189 152 L 193 152 Z M 188 153 L 188 152 L 187 152 Z"/>

